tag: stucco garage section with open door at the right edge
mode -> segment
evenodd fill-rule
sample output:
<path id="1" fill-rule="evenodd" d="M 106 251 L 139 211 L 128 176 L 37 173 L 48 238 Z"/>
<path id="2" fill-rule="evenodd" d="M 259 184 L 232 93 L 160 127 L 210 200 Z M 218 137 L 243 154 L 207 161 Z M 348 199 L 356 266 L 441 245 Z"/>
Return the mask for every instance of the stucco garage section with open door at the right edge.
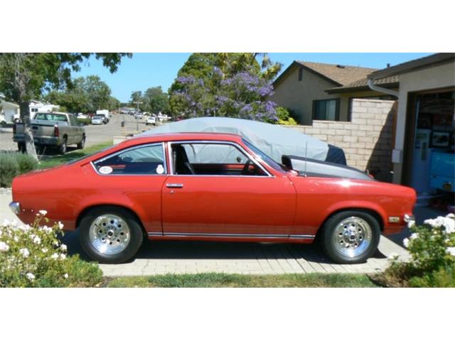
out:
<path id="1" fill-rule="evenodd" d="M 400 80 L 391 146 L 393 182 L 410 185 L 422 195 L 436 190 L 453 193 L 455 53 L 436 53 L 378 70 L 368 80 L 385 77 Z"/>

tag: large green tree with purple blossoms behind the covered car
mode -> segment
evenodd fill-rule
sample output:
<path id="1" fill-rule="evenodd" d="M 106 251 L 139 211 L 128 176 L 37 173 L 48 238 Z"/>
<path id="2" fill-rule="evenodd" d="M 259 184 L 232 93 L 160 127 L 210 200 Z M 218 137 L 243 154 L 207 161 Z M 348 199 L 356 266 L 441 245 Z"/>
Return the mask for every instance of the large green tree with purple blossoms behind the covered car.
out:
<path id="1" fill-rule="evenodd" d="M 278 120 L 276 104 L 268 99 L 273 94 L 272 78 L 279 71 L 277 64 L 267 59 L 265 67 L 260 67 L 255 56 L 244 53 L 200 55 L 196 72 L 188 72 L 186 64 L 171 87 L 174 114 Z M 207 63 L 212 65 L 207 67 Z"/>

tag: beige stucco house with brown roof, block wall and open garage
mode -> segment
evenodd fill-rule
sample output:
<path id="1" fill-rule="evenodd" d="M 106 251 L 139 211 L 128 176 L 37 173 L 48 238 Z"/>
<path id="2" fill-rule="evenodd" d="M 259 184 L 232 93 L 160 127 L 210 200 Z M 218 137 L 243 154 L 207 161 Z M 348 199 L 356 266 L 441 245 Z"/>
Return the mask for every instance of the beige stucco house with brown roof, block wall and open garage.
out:
<path id="1" fill-rule="evenodd" d="M 419 197 L 453 197 L 455 53 L 383 70 L 294 62 L 274 86 L 274 101 L 301 118 L 295 129 L 343 148 L 348 165 Z M 321 101 L 336 102 L 326 102 L 325 116 Z"/>

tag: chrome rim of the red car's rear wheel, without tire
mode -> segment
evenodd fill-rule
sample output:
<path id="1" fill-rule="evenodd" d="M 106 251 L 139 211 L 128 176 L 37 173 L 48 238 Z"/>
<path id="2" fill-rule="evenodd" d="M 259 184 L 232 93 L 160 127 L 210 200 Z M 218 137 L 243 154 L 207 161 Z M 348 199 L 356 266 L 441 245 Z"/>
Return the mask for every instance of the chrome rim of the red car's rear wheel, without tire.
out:
<path id="1" fill-rule="evenodd" d="M 130 229 L 118 215 L 105 214 L 93 220 L 89 235 L 92 246 L 101 254 L 119 254 L 127 248 Z"/>

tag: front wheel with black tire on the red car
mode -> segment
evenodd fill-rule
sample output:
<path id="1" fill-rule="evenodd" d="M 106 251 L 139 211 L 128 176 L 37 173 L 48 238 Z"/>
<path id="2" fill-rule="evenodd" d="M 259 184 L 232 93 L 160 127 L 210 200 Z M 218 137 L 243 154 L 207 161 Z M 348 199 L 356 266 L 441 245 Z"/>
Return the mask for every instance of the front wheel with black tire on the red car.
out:
<path id="1" fill-rule="evenodd" d="M 321 244 L 327 256 L 339 264 L 363 263 L 378 249 L 380 234 L 379 222 L 370 213 L 343 211 L 323 224 Z"/>

